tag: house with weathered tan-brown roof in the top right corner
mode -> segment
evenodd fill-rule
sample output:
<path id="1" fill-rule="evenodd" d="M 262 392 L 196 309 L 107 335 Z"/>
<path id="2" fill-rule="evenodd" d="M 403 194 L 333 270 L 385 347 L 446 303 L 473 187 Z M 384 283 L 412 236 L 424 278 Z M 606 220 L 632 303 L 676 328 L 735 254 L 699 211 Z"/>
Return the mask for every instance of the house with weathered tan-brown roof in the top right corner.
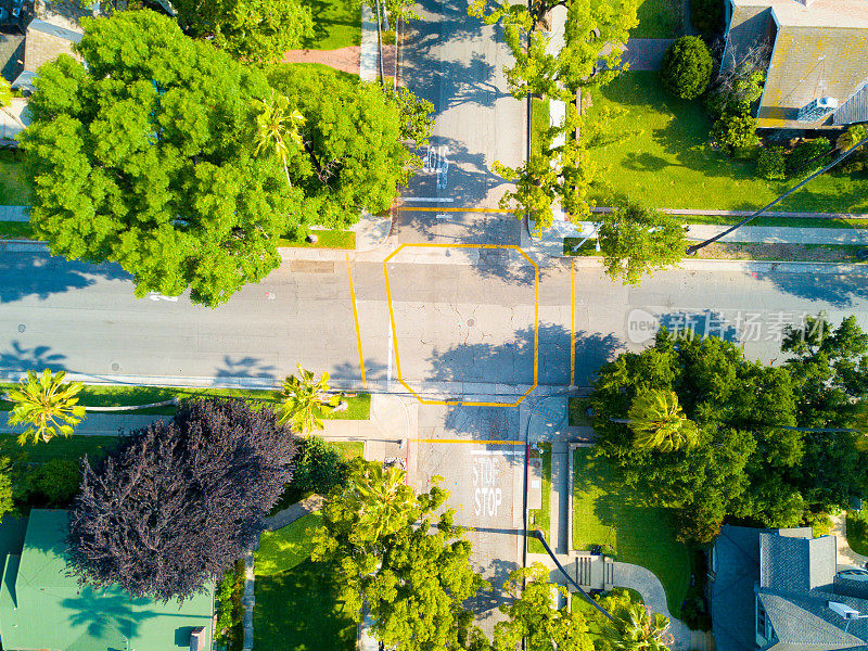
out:
<path id="1" fill-rule="evenodd" d="M 726 0 L 723 66 L 770 52 L 760 128 L 868 122 L 868 0 Z"/>

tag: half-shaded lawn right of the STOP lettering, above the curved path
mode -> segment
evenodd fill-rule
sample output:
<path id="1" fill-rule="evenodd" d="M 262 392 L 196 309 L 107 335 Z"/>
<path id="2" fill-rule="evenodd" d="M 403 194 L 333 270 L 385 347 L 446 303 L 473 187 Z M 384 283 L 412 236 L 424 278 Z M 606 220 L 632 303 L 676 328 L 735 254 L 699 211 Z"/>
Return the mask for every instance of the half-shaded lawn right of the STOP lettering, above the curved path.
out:
<path id="1" fill-rule="evenodd" d="M 675 539 L 669 509 L 620 486 L 609 462 L 591 458 L 592 448 L 574 452 L 573 548 L 602 545 L 618 561 L 648 567 L 663 584 L 669 612 L 679 616 L 690 584 L 690 554 Z"/>

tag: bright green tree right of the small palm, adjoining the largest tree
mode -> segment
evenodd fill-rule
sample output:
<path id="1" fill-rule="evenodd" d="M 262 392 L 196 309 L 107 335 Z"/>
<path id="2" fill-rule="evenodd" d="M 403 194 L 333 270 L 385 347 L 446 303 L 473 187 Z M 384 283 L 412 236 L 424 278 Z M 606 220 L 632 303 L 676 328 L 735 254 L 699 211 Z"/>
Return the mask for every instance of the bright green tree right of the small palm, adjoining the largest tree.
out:
<path id="1" fill-rule="evenodd" d="M 316 222 L 343 228 L 358 221 L 362 208 L 387 209 L 397 187 L 422 165 L 406 140 L 426 137 L 430 120 L 420 114 L 431 104 L 329 71 L 279 65 L 268 78 L 305 116 L 304 155 L 290 159 L 289 168 Z"/>

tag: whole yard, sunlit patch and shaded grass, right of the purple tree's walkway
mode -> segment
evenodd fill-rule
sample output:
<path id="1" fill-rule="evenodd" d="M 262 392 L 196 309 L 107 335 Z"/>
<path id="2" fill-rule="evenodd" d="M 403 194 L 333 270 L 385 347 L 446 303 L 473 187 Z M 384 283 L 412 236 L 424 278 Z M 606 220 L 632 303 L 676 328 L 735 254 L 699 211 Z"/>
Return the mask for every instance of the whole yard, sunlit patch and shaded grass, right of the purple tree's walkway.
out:
<path id="1" fill-rule="evenodd" d="M 337 602 L 334 567 L 309 559 L 311 513 L 264 533 L 256 563 L 255 647 L 295 651 L 349 651 L 356 624 Z"/>

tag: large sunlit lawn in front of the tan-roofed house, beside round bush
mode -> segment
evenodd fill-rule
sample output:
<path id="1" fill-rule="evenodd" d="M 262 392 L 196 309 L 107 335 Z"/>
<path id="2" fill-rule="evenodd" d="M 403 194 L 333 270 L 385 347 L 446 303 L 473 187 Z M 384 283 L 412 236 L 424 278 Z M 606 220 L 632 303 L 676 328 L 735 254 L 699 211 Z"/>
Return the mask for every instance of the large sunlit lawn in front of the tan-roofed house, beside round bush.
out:
<path id="1" fill-rule="evenodd" d="M 794 183 L 757 179 L 754 163 L 712 150 L 711 124 L 700 102 L 668 95 L 656 73 L 626 73 L 595 89 L 588 117 L 607 106 L 627 110 L 613 128 L 643 129 L 626 142 L 592 150 L 598 162 L 611 165 L 607 178 L 616 199 L 629 196 L 659 208 L 756 209 Z M 776 209 L 868 213 L 868 178 L 824 175 Z"/>

